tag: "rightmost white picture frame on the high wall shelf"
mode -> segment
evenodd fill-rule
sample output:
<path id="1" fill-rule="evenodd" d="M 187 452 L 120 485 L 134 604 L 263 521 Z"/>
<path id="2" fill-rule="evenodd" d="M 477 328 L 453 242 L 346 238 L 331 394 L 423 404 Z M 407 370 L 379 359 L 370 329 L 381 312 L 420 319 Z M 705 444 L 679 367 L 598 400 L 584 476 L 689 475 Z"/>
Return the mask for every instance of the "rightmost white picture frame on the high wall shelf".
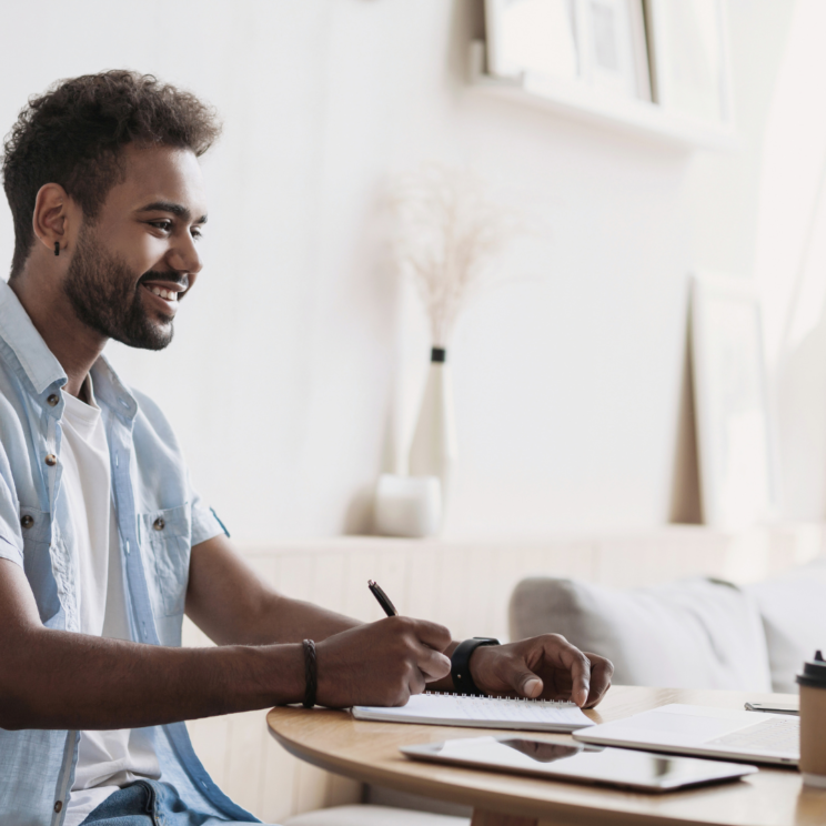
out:
<path id="1" fill-rule="evenodd" d="M 653 100 L 663 110 L 732 128 L 724 0 L 645 0 Z"/>

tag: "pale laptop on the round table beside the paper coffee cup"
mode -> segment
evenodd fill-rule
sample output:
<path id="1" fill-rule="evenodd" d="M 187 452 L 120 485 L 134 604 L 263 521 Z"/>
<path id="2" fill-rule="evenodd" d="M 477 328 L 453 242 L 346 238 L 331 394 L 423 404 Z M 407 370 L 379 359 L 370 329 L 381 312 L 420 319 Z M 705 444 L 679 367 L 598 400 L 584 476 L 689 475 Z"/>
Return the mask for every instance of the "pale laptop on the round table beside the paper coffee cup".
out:
<path id="1" fill-rule="evenodd" d="M 800 718 L 673 704 L 574 732 L 583 743 L 796 766 Z"/>

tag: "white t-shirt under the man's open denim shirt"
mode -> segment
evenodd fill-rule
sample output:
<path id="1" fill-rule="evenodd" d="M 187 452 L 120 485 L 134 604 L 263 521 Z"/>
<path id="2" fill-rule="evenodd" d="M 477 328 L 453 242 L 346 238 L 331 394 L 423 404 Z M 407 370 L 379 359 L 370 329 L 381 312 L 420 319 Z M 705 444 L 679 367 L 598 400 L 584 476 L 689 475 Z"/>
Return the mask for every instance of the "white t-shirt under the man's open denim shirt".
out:
<path id="1" fill-rule="evenodd" d="M 61 494 L 68 500 L 78 548 L 80 631 L 130 639 L 123 566 L 111 496 L 109 445 L 100 407 L 63 393 Z M 109 795 L 141 778 L 159 779 L 158 757 L 143 729 L 81 732 L 64 826 L 79 826 Z"/>

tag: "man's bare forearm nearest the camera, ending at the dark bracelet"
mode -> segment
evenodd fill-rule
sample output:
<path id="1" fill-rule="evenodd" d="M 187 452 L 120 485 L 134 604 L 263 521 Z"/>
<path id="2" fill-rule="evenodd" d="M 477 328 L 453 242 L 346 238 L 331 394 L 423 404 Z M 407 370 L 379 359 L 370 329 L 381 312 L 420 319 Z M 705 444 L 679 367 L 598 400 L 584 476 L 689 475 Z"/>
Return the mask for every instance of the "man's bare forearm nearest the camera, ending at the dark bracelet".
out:
<path id="1" fill-rule="evenodd" d="M 171 648 L 47 628 L 3 646 L 2 728 L 131 728 L 303 697 L 301 645 Z"/>

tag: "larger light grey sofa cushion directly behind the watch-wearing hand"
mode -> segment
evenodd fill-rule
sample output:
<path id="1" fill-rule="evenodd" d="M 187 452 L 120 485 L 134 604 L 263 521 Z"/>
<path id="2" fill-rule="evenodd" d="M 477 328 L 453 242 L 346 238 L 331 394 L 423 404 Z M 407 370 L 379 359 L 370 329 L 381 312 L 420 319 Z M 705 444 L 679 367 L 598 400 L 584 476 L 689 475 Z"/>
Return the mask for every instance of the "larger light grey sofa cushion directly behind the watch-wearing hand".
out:
<path id="1" fill-rule="evenodd" d="M 511 638 L 547 632 L 608 657 L 614 682 L 622 685 L 772 687 L 754 598 L 715 580 L 631 591 L 573 580 L 523 580 L 511 597 Z"/>

